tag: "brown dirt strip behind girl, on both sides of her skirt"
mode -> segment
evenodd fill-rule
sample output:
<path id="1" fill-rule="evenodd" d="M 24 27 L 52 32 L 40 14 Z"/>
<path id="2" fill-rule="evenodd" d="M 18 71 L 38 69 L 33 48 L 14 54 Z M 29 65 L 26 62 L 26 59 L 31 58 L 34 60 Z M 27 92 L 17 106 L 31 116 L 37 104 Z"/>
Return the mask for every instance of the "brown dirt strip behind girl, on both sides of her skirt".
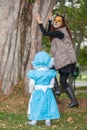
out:
<path id="1" fill-rule="evenodd" d="M 61 97 L 56 99 L 60 112 L 66 112 L 70 100 L 68 98 L 61 99 Z M 26 96 L 16 93 L 14 95 L 4 96 L 2 93 L 0 93 L 0 111 L 20 113 L 22 110 L 24 110 L 27 112 L 28 101 L 29 95 Z M 76 110 L 81 112 L 83 108 L 87 108 L 87 99 L 79 98 L 78 102 L 79 107 L 78 109 L 75 108 Z"/>

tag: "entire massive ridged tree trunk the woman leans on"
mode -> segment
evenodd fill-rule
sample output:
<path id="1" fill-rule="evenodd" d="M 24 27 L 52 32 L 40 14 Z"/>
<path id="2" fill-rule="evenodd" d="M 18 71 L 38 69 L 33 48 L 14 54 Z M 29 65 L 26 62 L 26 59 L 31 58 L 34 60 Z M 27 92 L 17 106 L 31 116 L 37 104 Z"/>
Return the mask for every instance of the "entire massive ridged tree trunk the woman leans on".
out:
<path id="1" fill-rule="evenodd" d="M 24 79 L 28 91 L 26 72 L 41 50 L 42 40 L 35 16 L 40 12 L 46 26 L 54 4 L 54 0 L 35 0 L 33 4 L 28 0 L 0 0 L 0 88 L 4 94 L 10 94 L 19 78 Z"/>

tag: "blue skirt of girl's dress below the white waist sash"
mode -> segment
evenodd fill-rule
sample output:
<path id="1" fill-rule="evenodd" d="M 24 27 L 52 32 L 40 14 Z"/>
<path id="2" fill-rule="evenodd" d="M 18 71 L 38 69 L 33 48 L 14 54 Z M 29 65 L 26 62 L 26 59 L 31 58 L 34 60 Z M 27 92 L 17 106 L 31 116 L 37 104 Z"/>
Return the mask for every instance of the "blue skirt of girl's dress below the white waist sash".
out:
<path id="1" fill-rule="evenodd" d="M 28 115 L 29 120 L 60 118 L 58 106 L 50 88 L 47 88 L 46 92 L 41 89 L 34 90 L 28 109 L 30 111 Z"/>

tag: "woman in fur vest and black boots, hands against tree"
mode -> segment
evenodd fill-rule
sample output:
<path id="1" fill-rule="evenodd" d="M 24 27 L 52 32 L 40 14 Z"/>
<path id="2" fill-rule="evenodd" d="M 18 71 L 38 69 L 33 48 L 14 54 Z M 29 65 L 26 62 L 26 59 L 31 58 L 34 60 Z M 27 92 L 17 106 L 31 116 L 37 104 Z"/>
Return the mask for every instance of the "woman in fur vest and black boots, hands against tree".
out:
<path id="1" fill-rule="evenodd" d="M 54 66 L 60 74 L 60 84 L 71 99 L 68 108 L 77 107 L 78 101 L 71 86 L 67 82 L 69 74 L 76 70 L 76 55 L 65 18 L 57 14 L 53 20 L 53 25 L 51 25 L 50 17 L 49 31 L 46 31 L 43 27 L 40 15 L 37 15 L 36 19 L 43 35 L 51 37 L 51 52 L 54 57 Z"/>

